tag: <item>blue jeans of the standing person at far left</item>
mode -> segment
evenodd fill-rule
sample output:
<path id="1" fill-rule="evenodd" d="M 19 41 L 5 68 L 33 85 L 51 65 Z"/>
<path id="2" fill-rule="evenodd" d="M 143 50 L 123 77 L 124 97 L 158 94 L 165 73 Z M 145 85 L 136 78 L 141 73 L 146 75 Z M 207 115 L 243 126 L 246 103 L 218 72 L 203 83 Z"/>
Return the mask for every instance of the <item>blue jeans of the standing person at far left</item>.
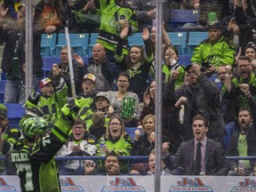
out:
<path id="1" fill-rule="evenodd" d="M 6 80 L 4 103 L 24 103 L 25 90 L 20 79 Z"/>

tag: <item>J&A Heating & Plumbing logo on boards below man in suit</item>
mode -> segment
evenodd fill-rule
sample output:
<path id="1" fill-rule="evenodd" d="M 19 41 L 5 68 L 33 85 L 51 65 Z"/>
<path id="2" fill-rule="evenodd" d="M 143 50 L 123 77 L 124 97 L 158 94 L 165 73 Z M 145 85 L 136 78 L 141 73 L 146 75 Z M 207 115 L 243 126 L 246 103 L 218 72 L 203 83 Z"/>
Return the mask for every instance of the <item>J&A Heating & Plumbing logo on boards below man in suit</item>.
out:
<path id="1" fill-rule="evenodd" d="M 172 186 L 169 191 L 211 191 L 212 188 L 205 186 L 203 181 L 199 178 L 181 178 L 177 181 L 177 186 Z"/>

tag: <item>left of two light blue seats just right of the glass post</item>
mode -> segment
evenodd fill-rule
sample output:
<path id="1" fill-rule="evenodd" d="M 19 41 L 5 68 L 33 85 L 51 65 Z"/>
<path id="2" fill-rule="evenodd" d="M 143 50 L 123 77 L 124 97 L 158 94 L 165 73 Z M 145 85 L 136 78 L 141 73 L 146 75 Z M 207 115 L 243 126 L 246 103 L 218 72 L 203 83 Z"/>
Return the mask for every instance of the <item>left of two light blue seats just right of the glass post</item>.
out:
<path id="1" fill-rule="evenodd" d="M 167 34 L 171 39 L 172 46 L 178 49 L 179 55 L 184 55 L 186 53 L 187 32 L 168 32 Z"/>

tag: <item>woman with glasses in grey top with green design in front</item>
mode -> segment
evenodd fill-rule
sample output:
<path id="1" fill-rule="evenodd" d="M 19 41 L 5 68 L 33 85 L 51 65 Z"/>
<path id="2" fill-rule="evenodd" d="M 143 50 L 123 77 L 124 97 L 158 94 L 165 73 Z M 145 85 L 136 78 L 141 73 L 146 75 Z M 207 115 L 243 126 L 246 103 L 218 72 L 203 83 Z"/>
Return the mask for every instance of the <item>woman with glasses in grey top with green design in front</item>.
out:
<path id="1" fill-rule="evenodd" d="M 110 106 L 114 108 L 114 115 L 121 116 L 127 126 L 136 126 L 139 120 L 139 97 L 134 92 L 128 92 L 130 77 L 122 72 L 116 78 L 117 92 L 107 92 Z"/>

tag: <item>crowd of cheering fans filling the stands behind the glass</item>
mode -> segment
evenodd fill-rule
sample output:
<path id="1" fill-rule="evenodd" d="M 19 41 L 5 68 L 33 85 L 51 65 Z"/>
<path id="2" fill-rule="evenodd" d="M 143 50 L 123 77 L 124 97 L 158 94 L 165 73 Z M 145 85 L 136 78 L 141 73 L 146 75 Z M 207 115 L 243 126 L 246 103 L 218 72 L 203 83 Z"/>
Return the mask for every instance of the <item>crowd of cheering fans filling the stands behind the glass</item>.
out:
<path id="1" fill-rule="evenodd" d="M 77 160 L 65 161 L 60 165 L 61 174 L 155 173 L 154 77 L 155 68 L 160 65 L 155 62 L 156 6 L 155 2 L 148 2 L 150 6 L 140 0 L 81 0 L 68 4 L 73 19 L 70 32 L 97 32 L 97 44 L 93 45 L 88 62 L 72 52 L 72 69 L 68 67 L 68 49 L 62 47 L 60 63 L 52 63 L 52 70 L 44 79 L 39 78 L 43 70 L 36 36 L 59 33 L 63 26 L 54 1 L 42 0 L 36 4 L 35 68 L 31 79 L 34 91 L 27 100 L 23 88 L 26 63 L 22 27 L 26 5 L 16 4 L 18 17 L 5 20 L 9 8 L 2 4 L 0 29 L 5 42 L 2 69 L 7 74 L 4 102 L 24 103 L 27 113 L 19 129 L 11 129 L 7 108 L 0 106 L 0 148 L 2 155 L 7 156 L 1 172 L 15 174 L 13 163 L 21 164 L 17 154 L 22 143 L 28 148 L 36 143 L 42 154 L 49 152 L 53 144 L 56 146 L 42 162 L 52 159 L 55 153 L 106 156 L 104 165 L 102 161 L 85 160 L 81 167 Z M 164 4 L 168 5 L 165 8 L 199 9 L 204 16 L 198 24 L 186 28 L 204 26 L 208 38 L 196 46 L 191 64 L 184 67 L 178 62 L 179 53 L 172 46 L 172 39 L 166 36 L 166 31 L 173 28 L 166 28 L 170 18 L 164 17 L 167 20 L 162 27 L 163 174 L 254 175 L 253 160 L 241 161 L 238 166 L 235 160 L 225 158 L 256 156 L 254 4 L 249 0 L 173 0 Z M 213 8 L 216 12 L 212 12 Z M 205 19 L 207 15 L 209 18 Z M 145 46 L 129 47 L 128 36 L 137 31 L 141 32 Z M 74 71 L 76 99 L 71 91 L 70 70 Z M 68 120 L 72 124 L 66 124 Z M 34 127 L 40 131 L 33 131 Z M 133 138 L 125 132 L 125 127 L 138 128 Z M 43 133 L 50 138 L 42 139 Z M 47 146 L 49 142 L 53 142 L 52 146 Z M 35 150 L 35 147 L 28 150 L 30 160 L 27 160 L 33 165 L 40 156 Z M 148 172 L 142 171 L 138 159 L 132 160 L 131 170 L 127 170 L 127 164 L 119 156 L 148 156 Z M 19 166 L 18 169 L 22 172 Z"/>

